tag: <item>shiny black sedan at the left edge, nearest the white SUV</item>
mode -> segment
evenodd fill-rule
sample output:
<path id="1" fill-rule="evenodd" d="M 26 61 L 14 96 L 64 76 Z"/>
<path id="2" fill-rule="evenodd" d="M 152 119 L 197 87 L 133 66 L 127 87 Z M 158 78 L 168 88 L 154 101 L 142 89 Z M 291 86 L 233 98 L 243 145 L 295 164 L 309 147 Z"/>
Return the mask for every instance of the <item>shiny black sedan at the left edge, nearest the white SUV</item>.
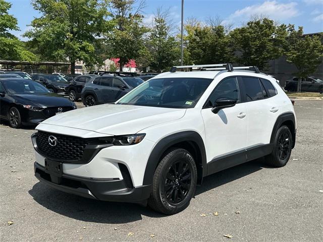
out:
<path id="1" fill-rule="evenodd" d="M 0 79 L 0 118 L 10 126 L 37 125 L 48 117 L 76 109 L 75 103 L 41 84 L 20 78 Z"/>

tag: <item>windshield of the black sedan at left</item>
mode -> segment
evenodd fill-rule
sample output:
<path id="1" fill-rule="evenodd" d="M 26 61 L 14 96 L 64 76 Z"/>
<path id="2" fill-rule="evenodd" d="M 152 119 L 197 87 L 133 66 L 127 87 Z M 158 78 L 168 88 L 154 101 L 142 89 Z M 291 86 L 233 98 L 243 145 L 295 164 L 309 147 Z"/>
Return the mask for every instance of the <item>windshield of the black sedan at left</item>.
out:
<path id="1" fill-rule="evenodd" d="M 3 85 L 7 91 L 11 94 L 16 93 L 48 93 L 48 91 L 43 85 L 35 81 L 16 81 L 16 80 L 6 80 Z"/>

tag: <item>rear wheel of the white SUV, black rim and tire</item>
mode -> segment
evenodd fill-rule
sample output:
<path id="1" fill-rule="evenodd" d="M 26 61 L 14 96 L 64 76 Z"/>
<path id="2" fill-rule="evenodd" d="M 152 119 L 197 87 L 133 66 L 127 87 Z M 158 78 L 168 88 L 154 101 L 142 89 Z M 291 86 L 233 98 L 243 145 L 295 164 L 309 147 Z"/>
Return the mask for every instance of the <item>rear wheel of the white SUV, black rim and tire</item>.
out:
<path id="1" fill-rule="evenodd" d="M 285 166 L 291 156 L 293 137 L 287 126 L 278 129 L 275 136 L 273 152 L 265 156 L 267 165 L 274 167 Z"/>

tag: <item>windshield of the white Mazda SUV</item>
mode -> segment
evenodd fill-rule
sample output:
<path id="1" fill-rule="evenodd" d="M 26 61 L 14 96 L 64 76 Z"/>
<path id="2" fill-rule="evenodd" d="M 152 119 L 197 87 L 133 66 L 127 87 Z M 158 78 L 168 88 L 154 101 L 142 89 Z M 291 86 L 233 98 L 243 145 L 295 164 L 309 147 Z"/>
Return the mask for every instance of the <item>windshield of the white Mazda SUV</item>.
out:
<path id="1" fill-rule="evenodd" d="M 213 79 L 206 78 L 158 78 L 149 80 L 117 104 L 192 108 Z"/>

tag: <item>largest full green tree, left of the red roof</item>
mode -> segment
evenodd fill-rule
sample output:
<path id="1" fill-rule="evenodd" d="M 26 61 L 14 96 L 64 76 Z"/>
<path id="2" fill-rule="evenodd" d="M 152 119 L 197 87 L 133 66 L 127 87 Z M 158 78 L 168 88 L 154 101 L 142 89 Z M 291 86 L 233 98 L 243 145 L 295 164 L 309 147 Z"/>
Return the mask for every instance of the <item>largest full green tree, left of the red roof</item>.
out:
<path id="1" fill-rule="evenodd" d="M 95 43 L 112 27 L 106 20 L 107 0 L 33 0 L 32 5 L 42 16 L 31 22 L 32 29 L 25 36 L 41 56 L 51 61 L 69 59 L 72 74 L 76 61 L 87 65 L 102 61 Z"/>

